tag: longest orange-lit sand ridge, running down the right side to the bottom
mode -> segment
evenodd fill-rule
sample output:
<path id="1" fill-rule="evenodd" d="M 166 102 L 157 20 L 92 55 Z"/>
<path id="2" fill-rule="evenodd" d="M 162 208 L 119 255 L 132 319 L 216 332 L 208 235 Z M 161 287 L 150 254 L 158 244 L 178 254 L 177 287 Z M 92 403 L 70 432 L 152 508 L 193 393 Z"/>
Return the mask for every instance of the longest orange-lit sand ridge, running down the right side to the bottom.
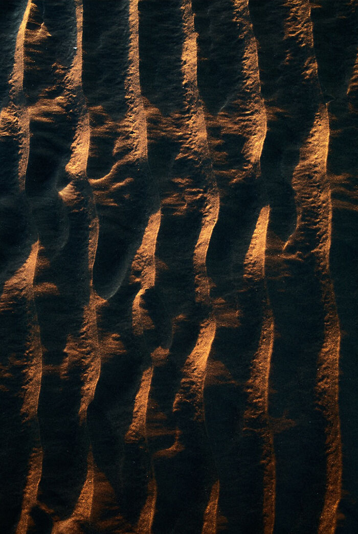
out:
<path id="1" fill-rule="evenodd" d="M 315 259 L 319 266 L 322 304 L 324 313 L 323 339 L 317 355 L 316 394 L 317 403 L 325 420 L 325 456 L 326 481 L 318 532 L 335 532 L 337 507 L 341 495 L 341 436 L 338 410 L 339 349 L 340 325 L 337 307 L 330 277 L 330 243 L 331 243 L 331 200 L 329 184 L 326 180 L 326 157 L 329 142 L 328 115 L 325 106 L 317 113 L 308 143 L 302 146 L 301 169 L 309 165 L 310 179 L 305 182 L 298 173 L 298 182 L 294 182 L 298 196 L 302 195 L 301 227 L 305 224 L 305 212 L 317 210 L 318 244 Z M 313 160 L 315 162 L 313 163 Z M 298 169 L 297 169 L 298 170 Z M 307 172 L 307 170 L 306 170 Z M 308 198 L 315 198 L 307 203 Z M 306 219 L 307 220 L 307 219 Z"/>

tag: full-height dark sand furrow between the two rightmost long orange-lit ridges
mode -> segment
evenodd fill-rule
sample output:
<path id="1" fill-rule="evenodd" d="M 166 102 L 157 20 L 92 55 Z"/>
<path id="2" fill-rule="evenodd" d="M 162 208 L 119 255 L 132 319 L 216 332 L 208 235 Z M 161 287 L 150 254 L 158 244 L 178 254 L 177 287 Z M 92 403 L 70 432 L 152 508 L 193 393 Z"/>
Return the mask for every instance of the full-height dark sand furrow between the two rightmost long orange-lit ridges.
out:
<path id="1" fill-rule="evenodd" d="M 261 169 L 270 202 L 266 272 L 275 323 L 271 387 L 276 391 L 269 398 L 276 456 L 275 531 L 304 531 L 318 528 L 328 465 L 327 422 L 316 410 L 315 385 L 315 363 L 326 340 L 327 308 L 321 299 L 324 277 L 319 274 L 324 262 L 317 252 L 328 231 L 325 176 L 317 163 L 323 158 L 324 168 L 325 125 L 309 6 L 301 2 L 282 5 L 277 12 L 267 13 L 264 23 L 254 2 L 250 9 L 260 45 L 260 77 L 269 117 Z M 280 29 L 269 40 L 268 28 L 273 24 Z M 270 52 L 277 58 L 271 64 L 267 62 Z M 274 73 L 278 76 L 276 87 L 270 78 Z M 294 110 L 289 92 L 283 89 L 286 84 L 294 91 Z M 290 131 L 283 133 L 278 128 Z M 275 151 L 277 143 L 280 148 Z M 268 156 L 273 151 L 276 162 Z M 282 197 L 282 191 L 287 195 Z M 300 287 L 298 280 L 302 280 Z M 301 325 L 299 332 L 297 324 Z M 293 383 L 295 391 L 290 386 Z M 309 423 L 303 418 L 307 413 Z M 292 447 L 300 450 L 295 458 Z M 316 458 L 315 469 L 310 470 L 310 489 L 316 489 L 314 497 L 309 493 L 309 508 L 305 504 L 308 493 L 302 497 L 307 458 Z M 302 508 L 309 513 L 302 515 Z"/>

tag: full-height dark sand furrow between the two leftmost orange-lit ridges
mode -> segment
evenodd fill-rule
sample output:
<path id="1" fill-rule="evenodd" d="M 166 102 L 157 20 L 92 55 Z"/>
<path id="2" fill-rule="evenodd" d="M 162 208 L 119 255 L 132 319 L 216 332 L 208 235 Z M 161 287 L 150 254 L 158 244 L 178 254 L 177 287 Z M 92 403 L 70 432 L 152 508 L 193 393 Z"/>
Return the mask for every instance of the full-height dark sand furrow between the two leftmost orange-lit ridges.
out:
<path id="1" fill-rule="evenodd" d="M 30 5 L 24 42 L 24 89 L 30 133 L 25 191 L 39 240 L 34 295 L 43 349 L 38 403 L 43 466 L 37 503 L 34 506 L 33 502 L 30 515 L 32 528 L 54 524 L 56 529 L 57 523 L 71 516 L 87 470 L 82 460 L 88 451 L 84 420 L 89 399 L 85 391 L 91 360 L 97 360 L 91 311 L 87 312 L 91 304 L 93 309 L 93 300 L 88 304 L 88 242 L 93 210 L 91 213 L 91 206 L 87 205 L 83 159 L 76 157 L 83 148 L 85 154 L 76 6 L 71 2 L 62 6 L 50 2 L 43 10 L 40 7 Z M 60 29 L 56 26 L 57 17 L 62 20 Z M 68 34 L 66 41 L 62 40 L 63 32 Z M 46 55 L 40 63 L 38 47 L 42 44 L 46 46 Z M 60 91 L 53 96 L 57 84 Z M 73 263 L 69 261 L 72 247 Z M 67 309 L 71 310 L 71 326 L 66 325 Z M 68 396 L 72 400 L 64 413 L 62 405 Z M 66 469 L 72 472 L 71 485 L 64 476 Z M 50 488 L 54 493 L 48 498 Z M 60 506 L 54 504 L 56 492 L 63 496 Z"/>

